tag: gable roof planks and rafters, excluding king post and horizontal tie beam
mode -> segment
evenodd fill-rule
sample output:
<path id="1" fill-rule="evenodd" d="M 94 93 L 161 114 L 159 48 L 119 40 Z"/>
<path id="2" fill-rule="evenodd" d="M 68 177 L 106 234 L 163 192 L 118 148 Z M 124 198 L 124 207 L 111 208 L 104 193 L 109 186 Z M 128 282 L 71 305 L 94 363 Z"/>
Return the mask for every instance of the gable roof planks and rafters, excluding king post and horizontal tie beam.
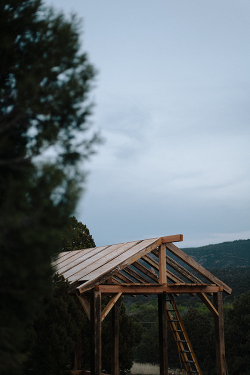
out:
<path id="1" fill-rule="evenodd" d="M 71 290 L 83 293 L 106 281 L 112 284 L 159 284 L 158 246 L 166 246 L 167 283 L 172 285 L 208 285 L 188 269 L 191 267 L 213 285 L 230 294 L 231 289 L 172 242 L 181 241 L 182 234 L 117 243 L 57 255 L 52 266 L 71 284 Z M 174 260 L 175 255 L 185 266 Z M 187 266 L 187 267 L 186 267 Z"/>

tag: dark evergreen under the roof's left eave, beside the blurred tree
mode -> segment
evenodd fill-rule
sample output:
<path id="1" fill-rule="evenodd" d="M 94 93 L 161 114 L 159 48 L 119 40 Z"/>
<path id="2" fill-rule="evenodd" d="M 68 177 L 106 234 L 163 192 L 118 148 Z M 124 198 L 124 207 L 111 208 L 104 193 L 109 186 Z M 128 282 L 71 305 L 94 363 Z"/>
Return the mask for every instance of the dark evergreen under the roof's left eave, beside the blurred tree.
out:
<path id="1" fill-rule="evenodd" d="M 83 313 L 76 299 L 68 295 L 69 283 L 55 274 L 52 295 L 33 323 L 34 344 L 25 373 L 59 375 L 71 369 L 75 341 L 80 334 Z M 64 373 L 64 371 L 63 371 Z"/>

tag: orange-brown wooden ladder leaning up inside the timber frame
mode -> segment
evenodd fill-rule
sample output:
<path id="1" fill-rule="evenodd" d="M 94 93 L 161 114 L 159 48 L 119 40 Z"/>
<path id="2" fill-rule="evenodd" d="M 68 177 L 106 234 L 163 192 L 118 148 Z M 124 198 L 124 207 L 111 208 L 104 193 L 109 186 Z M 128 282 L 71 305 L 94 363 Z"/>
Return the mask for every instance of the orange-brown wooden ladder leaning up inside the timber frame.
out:
<path id="1" fill-rule="evenodd" d="M 187 374 L 202 375 L 172 294 L 168 294 L 166 311 L 167 321 L 177 344 L 179 355 Z"/>

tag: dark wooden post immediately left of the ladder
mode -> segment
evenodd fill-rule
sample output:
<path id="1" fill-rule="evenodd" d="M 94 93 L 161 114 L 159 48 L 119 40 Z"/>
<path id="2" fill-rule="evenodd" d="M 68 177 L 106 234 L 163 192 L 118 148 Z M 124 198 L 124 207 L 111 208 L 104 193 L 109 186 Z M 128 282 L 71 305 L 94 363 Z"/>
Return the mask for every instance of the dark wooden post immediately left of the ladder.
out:
<path id="1" fill-rule="evenodd" d="M 159 375 L 167 375 L 166 295 L 158 294 Z"/>

